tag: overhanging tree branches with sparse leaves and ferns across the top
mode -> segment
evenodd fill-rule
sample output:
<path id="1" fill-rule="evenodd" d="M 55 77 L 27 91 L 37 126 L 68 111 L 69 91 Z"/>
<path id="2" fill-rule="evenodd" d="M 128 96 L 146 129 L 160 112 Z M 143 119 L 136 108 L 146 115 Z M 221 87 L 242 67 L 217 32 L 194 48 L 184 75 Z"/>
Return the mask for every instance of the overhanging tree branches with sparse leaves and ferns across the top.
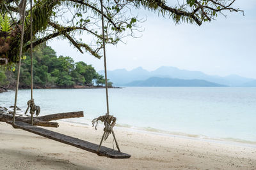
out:
<path id="1" fill-rule="evenodd" d="M 52 38 L 68 39 L 81 53 L 88 52 L 100 58 L 102 34 L 100 31 L 99 0 L 34 0 L 33 12 L 24 7 L 26 0 L 0 0 L 0 57 L 17 62 L 20 44 L 21 16 L 26 15 L 24 30 L 24 51 L 30 46 L 29 17 L 33 16 L 33 46 Z M 176 24 L 187 22 L 201 25 L 210 22 L 224 11 L 241 11 L 233 8 L 236 0 L 108 0 L 104 1 L 104 31 L 106 43 L 115 45 L 125 36 L 136 36 L 141 20 L 132 15 L 133 9 L 145 8 L 159 15 L 171 18 Z M 25 13 L 22 9 L 25 8 Z M 1 24 L 3 23 L 3 25 Z M 88 34 L 87 39 L 79 34 Z"/>

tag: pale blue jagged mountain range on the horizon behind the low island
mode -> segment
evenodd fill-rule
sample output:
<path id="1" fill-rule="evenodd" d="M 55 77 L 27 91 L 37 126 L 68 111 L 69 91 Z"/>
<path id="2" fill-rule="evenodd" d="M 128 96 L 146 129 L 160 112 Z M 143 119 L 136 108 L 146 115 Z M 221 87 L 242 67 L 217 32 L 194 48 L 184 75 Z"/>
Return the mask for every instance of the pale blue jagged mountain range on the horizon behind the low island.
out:
<path id="1" fill-rule="evenodd" d="M 104 71 L 99 71 L 104 74 Z M 116 69 L 108 71 L 108 78 L 115 86 L 125 86 L 132 81 L 143 81 L 148 78 L 172 78 L 182 80 L 205 80 L 209 83 L 233 87 L 256 87 L 256 80 L 252 78 L 244 78 L 235 74 L 229 76 L 212 76 L 200 71 L 188 71 L 178 69 L 177 67 L 159 67 L 155 71 L 147 71 L 142 67 L 127 71 L 126 69 Z M 187 81 L 187 83 L 189 83 Z"/>

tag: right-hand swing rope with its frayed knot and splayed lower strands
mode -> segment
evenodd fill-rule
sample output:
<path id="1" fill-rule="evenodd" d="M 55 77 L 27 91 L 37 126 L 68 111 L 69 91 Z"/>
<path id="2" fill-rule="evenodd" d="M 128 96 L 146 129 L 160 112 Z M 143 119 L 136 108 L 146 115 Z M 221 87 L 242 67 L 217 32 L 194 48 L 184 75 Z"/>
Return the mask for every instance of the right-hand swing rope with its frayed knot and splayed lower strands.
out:
<path id="1" fill-rule="evenodd" d="M 113 130 L 113 127 L 116 124 L 116 118 L 113 117 L 112 115 L 109 115 L 109 102 L 108 102 L 108 78 L 107 78 L 107 62 L 106 62 L 106 45 L 105 45 L 105 32 L 104 32 L 104 18 L 103 18 L 103 2 L 102 0 L 100 0 L 100 6 L 101 6 L 101 24 L 102 24 L 102 40 L 103 40 L 103 56 L 104 56 L 104 71 L 105 71 L 105 89 L 106 89 L 106 103 L 107 103 L 107 113 L 104 116 L 98 117 L 98 118 L 94 118 L 92 120 L 92 125 L 94 127 L 95 125 L 95 129 L 97 130 L 97 125 L 98 122 L 104 122 L 104 133 L 102 135 L 101 141 L 100 141 L 100 145 L 98 148 L 98 152 L 100 150 L 100 146 L 102 145 L 102 141 L 106 141 L 106 139 L 108 138 L 109 134 L 113 134 L 113 138 L 115 140 L 116 143 L 116 148 L 118 149 L 118 151 L 120 152 L 120 148 L 118 146 L 116 137 L 115 137 L 115 132 Z"/>

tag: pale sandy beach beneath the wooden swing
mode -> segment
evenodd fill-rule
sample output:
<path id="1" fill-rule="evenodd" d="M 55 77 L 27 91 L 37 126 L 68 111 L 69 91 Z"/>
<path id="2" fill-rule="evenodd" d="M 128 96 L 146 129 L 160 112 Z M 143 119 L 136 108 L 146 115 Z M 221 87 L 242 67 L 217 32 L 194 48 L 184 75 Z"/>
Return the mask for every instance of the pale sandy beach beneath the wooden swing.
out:
<path id="1" fill-rule="evenodd" d="M 102 128 L 59 122 L 48 128 L 99 143 Z M 164 136 L 116 128 L 122 152 L 131 159 L 109 159 L 0 122 L 0 169 L 256 169 L 256 147 Z M 113 138 L 104 146 L 113 147 Z"/>

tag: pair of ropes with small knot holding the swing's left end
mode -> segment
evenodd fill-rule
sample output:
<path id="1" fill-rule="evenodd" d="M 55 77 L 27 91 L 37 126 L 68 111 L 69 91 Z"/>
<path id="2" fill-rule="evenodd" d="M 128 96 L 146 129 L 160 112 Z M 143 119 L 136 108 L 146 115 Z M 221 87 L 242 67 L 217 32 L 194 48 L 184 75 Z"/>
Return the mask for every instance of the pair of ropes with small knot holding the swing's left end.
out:
<path id="1" fill-rule="evenodd" d="M 15 124 L 15 115 L 16 115 L 16 106 L 17 106 L 17 94 L 19 90 L 19 78 L 20 78 L 20 62 L 21 62 L 21 55 L 22 55 L 22 48 L 23 48 L 23 39 L 24 39 L 24 26 L 25 26 L 25 12 L 26 12 L 26 1 L 22 4 L 24 11 L 22 11 L 22 32 L 20 38 L 20 51 L 19 51 L 19 69 L 18 69 L 18 76 L 17 76 L 17 84 L 16 84 L 16 91 L 15 91 L 15 104 L 14 104 L 14 111 L 13 111 L 13 125 Z M 33 16 L 32 16 L 32 0 L 30 0 L 30 81 L 31 81 L 31 99 L 28 101 L 28 108 L 25 111 L 25 115 L 30 108 L 29 113 L 31 114 L 31 125 L 34 124 L 33 115 L 36 113 L 36 116 L 40 113 L 40 106 L 36 106 L 34 99 L 33 99 Z M 23 9 L 22 9 L 23 10 Z"/>

